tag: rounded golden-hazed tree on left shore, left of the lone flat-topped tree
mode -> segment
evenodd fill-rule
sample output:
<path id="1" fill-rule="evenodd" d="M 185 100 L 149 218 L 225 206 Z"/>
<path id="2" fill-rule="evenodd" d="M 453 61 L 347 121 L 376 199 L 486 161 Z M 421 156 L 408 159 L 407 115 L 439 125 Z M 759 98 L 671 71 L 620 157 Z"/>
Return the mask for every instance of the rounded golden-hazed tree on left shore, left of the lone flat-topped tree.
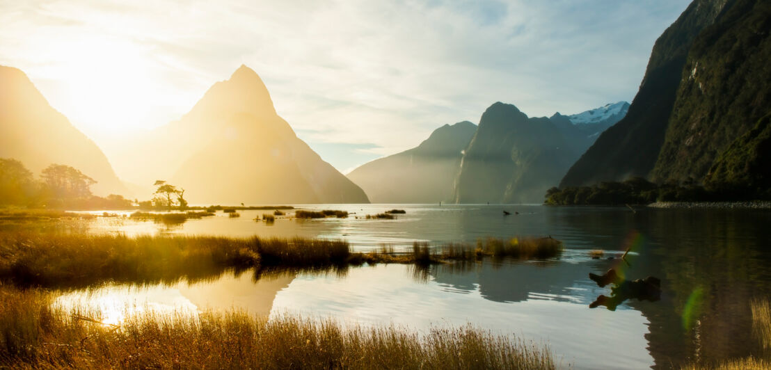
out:
<path id="1" fill-rule="evenodd" d="M 41 177 L 45 188 L 56 200 L 82 199 L 91 196 L 91 186 L 96 180 L 84 175 L 75 168 L 52 164 L 42 170 Z"/>

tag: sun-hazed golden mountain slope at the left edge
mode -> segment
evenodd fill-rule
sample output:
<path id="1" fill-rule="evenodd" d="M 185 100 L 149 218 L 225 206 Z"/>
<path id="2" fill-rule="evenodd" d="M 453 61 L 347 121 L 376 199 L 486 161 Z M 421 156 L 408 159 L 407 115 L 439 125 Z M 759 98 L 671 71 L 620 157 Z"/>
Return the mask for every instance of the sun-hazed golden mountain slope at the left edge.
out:
<path id="1" fill-rule="evenodd" d="M 53 109 L 27 75 L 0 66 L 0 158 L 14 158 L 33 173 L 51 163 L 75 167 L 97 183 L 93 192 L 126 194 L 107 157 Z"/>

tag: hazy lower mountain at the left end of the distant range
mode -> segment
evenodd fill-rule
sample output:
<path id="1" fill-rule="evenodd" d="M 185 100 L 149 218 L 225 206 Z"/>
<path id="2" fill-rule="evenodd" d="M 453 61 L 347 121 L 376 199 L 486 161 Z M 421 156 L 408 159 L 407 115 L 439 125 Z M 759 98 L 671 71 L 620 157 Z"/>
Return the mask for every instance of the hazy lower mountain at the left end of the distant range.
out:
<path id="1" fill-rule="evenodd" d="M 419 146 L 365 163 L 348 173 L 372 203 L 439 203 L 453 200 L 463 150 L 476 132 L 468 121 L 434 130 Z"/>

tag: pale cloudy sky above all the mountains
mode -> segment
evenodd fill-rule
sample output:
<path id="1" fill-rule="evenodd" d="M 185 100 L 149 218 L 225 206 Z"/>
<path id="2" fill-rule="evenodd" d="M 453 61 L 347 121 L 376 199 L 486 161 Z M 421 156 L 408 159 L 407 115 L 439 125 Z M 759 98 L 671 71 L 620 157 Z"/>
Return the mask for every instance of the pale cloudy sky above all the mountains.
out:
<path id="1" fill-rule="evenodd" d="M 0 0 L 0 65 L 103 148 L 179 119 L 241 64 L 338 170 L 501 101 L 630 101 L 685 0 Z M 118 173 L 120 176 L 120 173 Z"/>

